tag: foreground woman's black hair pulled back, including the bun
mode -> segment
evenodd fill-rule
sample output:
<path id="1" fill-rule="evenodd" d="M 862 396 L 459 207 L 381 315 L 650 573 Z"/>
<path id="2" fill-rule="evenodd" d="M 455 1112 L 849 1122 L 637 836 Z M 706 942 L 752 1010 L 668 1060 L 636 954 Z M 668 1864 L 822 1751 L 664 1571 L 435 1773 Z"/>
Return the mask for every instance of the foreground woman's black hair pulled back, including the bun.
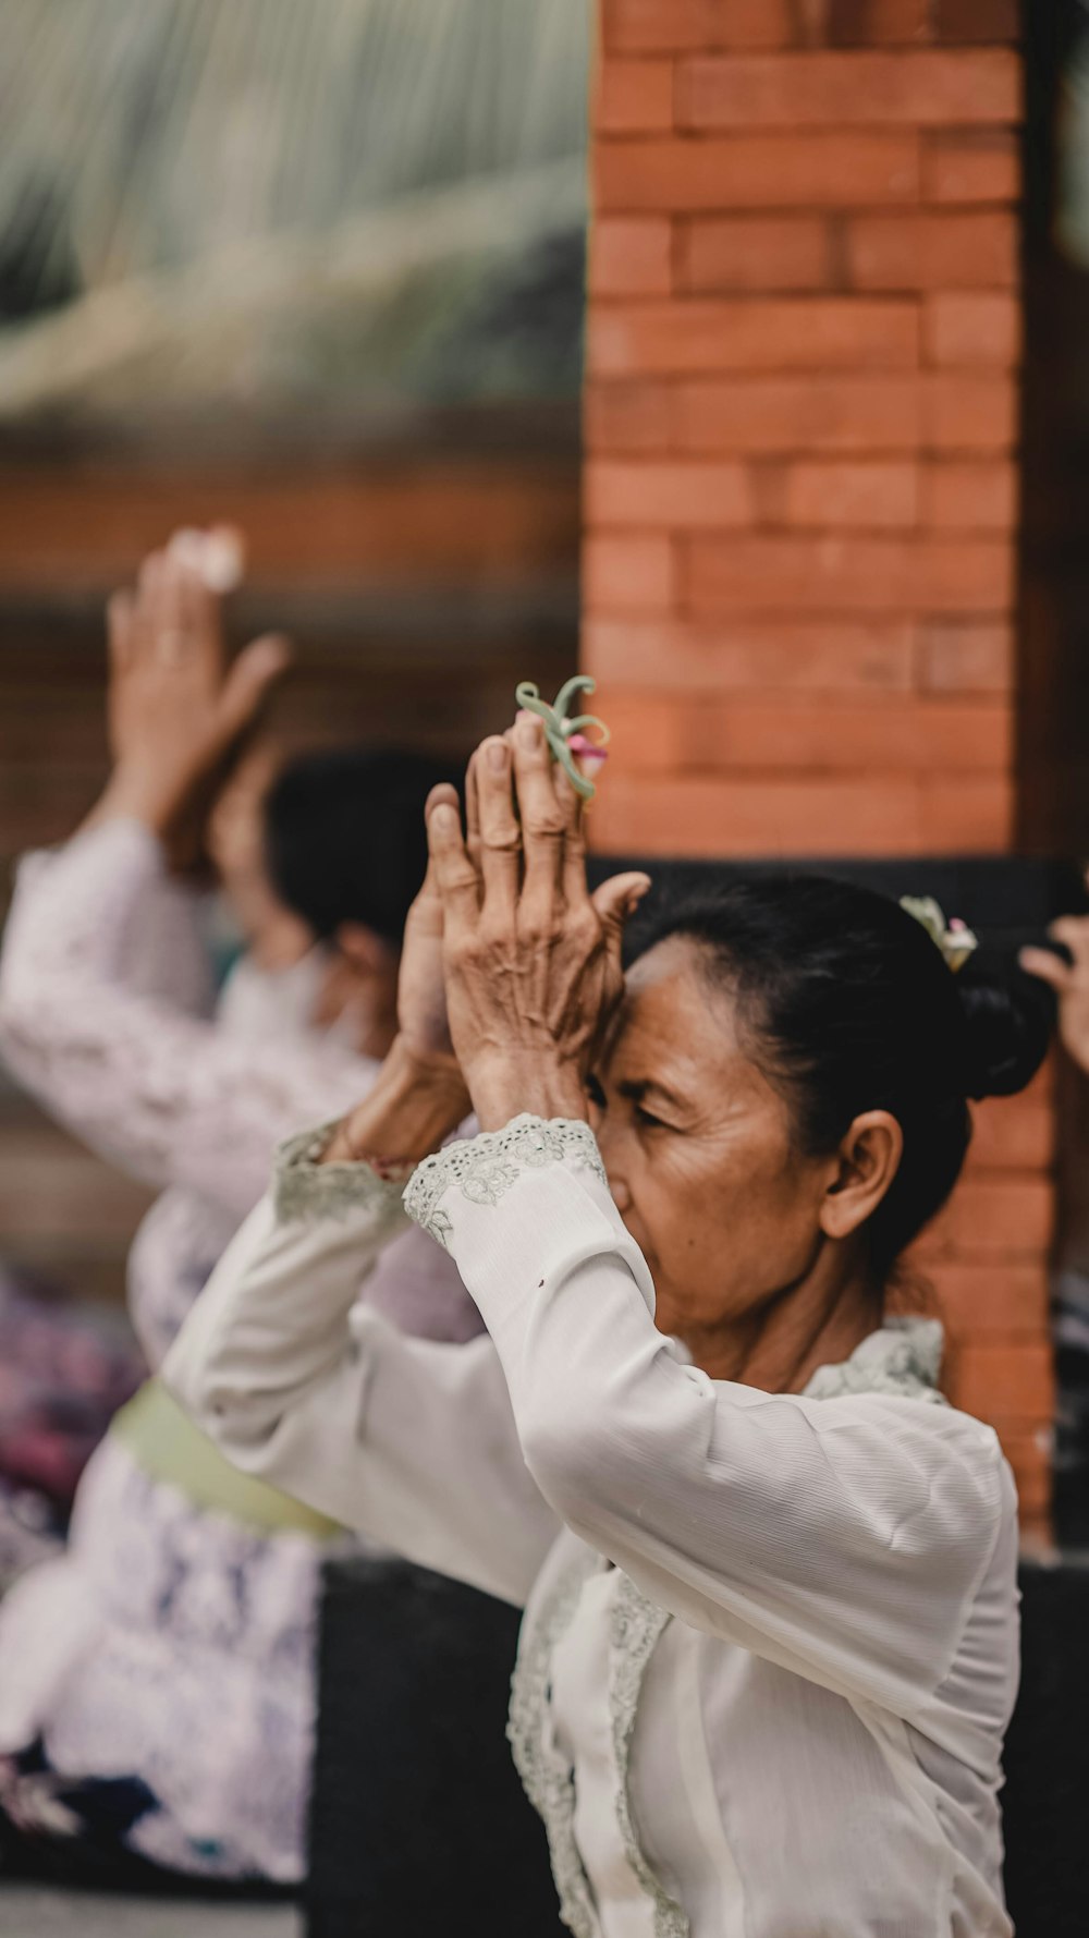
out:
<path id="1" fill-rule="evenodd" d="M 738 1006 L 754 1060 L 810 1153 L 833 1151 L 864 1110 L 903 1130 L 893 1184 L 868 1223 L 884 1281 L 944 1205 L 971 1140 L 969 1099 L 1008 1097 L 1039 1070 L 1048 990 L 969 957 L 953 975 L 899 903 L 824 876 L 771 876 L 665 909 L 643 948 L 690 936 Z"/>

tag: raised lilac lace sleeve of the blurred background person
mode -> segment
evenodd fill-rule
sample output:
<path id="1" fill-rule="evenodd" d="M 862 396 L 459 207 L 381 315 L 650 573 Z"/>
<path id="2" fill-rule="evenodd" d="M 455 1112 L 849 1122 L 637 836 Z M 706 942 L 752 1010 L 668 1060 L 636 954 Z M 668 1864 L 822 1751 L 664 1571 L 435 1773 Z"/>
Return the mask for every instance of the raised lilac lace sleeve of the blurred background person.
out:
<path id="1" fill-rule="evenodd" d="M 163 988 L 169 952 L 153 942 L 167 890 L 159 843 L 138 822 L 31 857 L 0 957 L 0 1050 L 93 1149 L 240 1219 L 275 1143 L 347 1110 L 376 1066 L 326 1043 L 236 1043 L 190 1014 L 192 948 L 176 950 L 190 959 L 186 988 Z M 159 969 L 134 973 L 141 953 Z"/>

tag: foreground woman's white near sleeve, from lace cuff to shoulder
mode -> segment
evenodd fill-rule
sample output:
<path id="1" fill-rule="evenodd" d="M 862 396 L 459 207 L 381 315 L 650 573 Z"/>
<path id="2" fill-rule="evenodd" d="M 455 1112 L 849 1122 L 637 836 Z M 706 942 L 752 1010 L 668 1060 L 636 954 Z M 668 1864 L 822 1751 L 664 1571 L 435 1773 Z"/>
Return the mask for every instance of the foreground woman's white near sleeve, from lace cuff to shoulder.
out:
<path id="1" fill-rule="evenodd" d="M 477 1298 L 525 1463 L 577 1535 L 682 1620 L 841 1694 L 901 1715 L 932 1694 L 1000 1531 L 990 1428 L 686 1364 L 587 1124 L 450 1145 L 405 1202 Z"/>

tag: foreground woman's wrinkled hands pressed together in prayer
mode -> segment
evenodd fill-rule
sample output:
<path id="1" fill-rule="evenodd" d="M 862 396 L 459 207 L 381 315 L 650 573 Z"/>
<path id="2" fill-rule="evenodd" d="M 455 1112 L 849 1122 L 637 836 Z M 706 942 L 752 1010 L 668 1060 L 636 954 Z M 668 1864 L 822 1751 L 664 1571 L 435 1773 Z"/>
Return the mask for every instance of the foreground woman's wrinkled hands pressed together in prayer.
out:
<path id="1" fill-rule="evenodd" d="M 624 921 L 649 878 L 589 893 L 583 806 L 533 715 L 477 748 L 465 793 L 465 828 L 453 787 L 428 798 L 397 1041 L 324 1163 L 415 1163 L 471 1110 L 482 1130 L 521 1112 L 587 1116 L 587 1072 L 624 990 Z"/>

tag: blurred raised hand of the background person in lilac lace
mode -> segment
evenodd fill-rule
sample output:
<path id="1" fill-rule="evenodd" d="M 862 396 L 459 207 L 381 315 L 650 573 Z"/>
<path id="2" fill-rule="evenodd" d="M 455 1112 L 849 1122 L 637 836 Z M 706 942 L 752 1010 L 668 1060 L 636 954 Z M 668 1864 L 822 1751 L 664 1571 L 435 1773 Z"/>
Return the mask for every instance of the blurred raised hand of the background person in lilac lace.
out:
<path id="1" fill-rule="evenodd" d="M 207 535 L 215 564 L 227 533 Z M 227 661 L 223 576 L 202 568 L 202 535 L 180 533 L 109 603 L 109 735 L 114 771 L 95 818 L 132 814 L 192 847 L 233 752 L 289 661 L 277 636 Z"/>

